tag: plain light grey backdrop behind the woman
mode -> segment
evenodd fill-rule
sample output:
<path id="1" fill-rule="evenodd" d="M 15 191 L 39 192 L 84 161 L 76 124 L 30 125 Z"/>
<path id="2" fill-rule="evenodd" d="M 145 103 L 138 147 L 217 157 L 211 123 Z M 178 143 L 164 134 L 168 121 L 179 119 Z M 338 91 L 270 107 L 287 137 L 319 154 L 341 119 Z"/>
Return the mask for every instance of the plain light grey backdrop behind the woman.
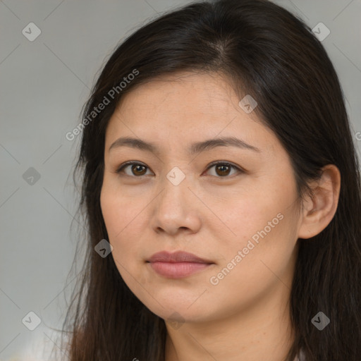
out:
<path id="1" fill-rule="evenodd" d="M 360 132 L 361 0 L 274 2 L 311 28 L 322 22 L 331 31 L 322 44 L 341 80 L 353 133 Z M 71 172 L 80 140 L 65 135 L 78 125 L 97 71 L 121 39 L 188 3 L 0 1 L 0 360 L 35 353 L 39 340 L 52 345 L 49 327 L 63 322 L 65 294 L 75 284 L 67 276 L 77 241 L 70 233 L 77 207 Z M 41 30 L 32 42 L 22 33 L 31 22 Z M 38 180 L 28 178 L 30 167 Z M 30 311 L 41 319 L 34 331 L 22 322 Z"/>

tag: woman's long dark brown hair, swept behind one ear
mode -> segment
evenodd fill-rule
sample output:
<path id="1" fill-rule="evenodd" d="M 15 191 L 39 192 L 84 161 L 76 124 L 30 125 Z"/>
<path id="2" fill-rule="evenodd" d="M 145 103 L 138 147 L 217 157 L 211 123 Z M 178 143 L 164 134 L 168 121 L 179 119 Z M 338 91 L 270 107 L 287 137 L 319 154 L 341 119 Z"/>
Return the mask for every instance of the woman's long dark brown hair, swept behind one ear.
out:
<path id="1" fill-rule="evenodd" d="M 63 324 L 70 360 L 164 361 L 164 320 L 130 291 L 112 255 L 99 257 L 94 247 L 108 239 L 99 196 L 109 118 L 124 94 L 178 71 L 222 73 L 240 99 L 257 99 L 255 113 L 292 159 L 300 197 L 322 166 L 340 170 L 334 219 L 313 238 L 299 239 L 290 295 L 295 341 L 286 360 L 300 350 L 307 361 L 360 360 L 361 188 L 343 92 L 310 27 L 266 0 L 204 1 L 165 13 L 118 45 L 97 78 L 82 111 L 87 122 L 74 171 L 75 183 L 81 175 L 87 234 Z M 105 98 L 109 104 L 92 114 Z M 320 311 L 331 320 L 322 331 L 311 323 Z"/>

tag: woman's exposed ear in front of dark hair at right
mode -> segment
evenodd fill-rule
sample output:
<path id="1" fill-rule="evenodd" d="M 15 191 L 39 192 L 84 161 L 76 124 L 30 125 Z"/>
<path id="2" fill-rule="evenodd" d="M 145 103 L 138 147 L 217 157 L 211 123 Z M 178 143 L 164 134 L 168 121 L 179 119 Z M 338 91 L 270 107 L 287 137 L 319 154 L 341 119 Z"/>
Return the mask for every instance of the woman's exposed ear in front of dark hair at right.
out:
<path id="1" fill-rule="evenodd" d="M 334 164 L 322 168 L 322 177 L 310 184 L 314 195 L 303 201 L 302 222 L 298 238 L 321 233 L 334 218 L 341 188 L 341 174 Z"/>

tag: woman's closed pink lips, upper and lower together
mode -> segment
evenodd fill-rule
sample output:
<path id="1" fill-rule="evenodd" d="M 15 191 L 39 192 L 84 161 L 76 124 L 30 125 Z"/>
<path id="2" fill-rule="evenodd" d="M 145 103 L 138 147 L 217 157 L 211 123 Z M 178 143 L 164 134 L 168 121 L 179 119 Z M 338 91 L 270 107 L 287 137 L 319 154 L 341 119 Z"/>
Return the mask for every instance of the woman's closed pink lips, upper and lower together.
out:
<path id="1" fill-rule="evenodd" d="M 161 276 L 170 279 L 180 279 L 197 271 L 201 271 L 213 264 L 208 259 L 202 259 L 192 253 L 177 251 L 169 253 L 166 251 L 157 252 L 147 262 Z"/>

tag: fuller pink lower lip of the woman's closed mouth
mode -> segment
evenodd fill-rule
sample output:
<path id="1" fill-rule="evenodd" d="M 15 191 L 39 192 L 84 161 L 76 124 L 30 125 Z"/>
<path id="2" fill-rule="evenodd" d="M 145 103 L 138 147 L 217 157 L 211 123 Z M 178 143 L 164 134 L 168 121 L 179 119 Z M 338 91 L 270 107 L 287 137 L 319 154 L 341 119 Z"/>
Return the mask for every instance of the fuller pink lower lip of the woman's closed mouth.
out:
<path id="1" fill-rule="evenodd" d="M 168 277 L 169 279 L 181 279 L 198 271 L 206 269 L 211 264 L 196 262 L 150 262 L 150 266 L 157 274 Z"/>

